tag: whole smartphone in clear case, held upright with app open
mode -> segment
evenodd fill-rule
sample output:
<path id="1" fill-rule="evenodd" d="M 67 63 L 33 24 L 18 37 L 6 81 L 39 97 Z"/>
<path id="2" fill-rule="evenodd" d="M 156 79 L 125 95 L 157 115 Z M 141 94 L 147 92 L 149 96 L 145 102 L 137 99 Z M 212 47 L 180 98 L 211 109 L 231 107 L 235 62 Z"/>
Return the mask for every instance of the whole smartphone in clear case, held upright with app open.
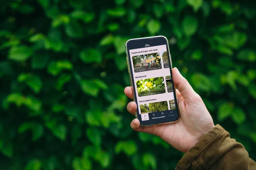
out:
<path id="1" fill-rule="evenodd" d="M 141 126 L 175 123 L 180 119 L 172 63 L 165 36 L 130 39 L 126 59 L 136 117 Z"/>

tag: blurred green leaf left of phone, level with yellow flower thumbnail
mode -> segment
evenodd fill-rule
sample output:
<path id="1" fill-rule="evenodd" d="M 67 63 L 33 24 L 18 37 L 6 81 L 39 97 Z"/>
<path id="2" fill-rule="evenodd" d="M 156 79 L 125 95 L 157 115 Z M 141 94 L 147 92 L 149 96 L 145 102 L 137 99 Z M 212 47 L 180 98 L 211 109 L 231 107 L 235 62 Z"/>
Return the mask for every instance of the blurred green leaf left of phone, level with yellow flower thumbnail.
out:
<path id="1" fill-rule="evenodd" d="M 99 87 L 95 86 L 95 83 L 92 80 L 83 80 L 81 81 L 82 91 L 93 97 L 96 97 L 99 94 Z"/>

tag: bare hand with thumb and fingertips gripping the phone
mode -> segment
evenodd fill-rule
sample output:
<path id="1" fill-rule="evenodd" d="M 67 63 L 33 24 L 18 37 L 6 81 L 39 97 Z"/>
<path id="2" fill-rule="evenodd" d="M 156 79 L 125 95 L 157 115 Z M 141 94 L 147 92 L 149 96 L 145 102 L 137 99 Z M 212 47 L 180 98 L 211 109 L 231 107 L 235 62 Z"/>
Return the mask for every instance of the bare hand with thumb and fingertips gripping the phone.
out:
<path id="1" fill-rule="evenodd" d="M 177 68 L 173 68 L 173 82 L 176 90 L 181 118 L 176 123 L 141 127 L 138 119 L 131 122 L 133 130 L 154 134 L 162 138 L 174 148 L 188 152 L 198 140 L 214 127 L 213 119 L 206 109 L 201 97 L 192 89 L 188 81 L 182 77 Z M 133 97 L 132 87 L 126 87 L 124 93 L 127 97 Z M 137 104 L 131 101 L 127 110 L 135 114 Z"/>

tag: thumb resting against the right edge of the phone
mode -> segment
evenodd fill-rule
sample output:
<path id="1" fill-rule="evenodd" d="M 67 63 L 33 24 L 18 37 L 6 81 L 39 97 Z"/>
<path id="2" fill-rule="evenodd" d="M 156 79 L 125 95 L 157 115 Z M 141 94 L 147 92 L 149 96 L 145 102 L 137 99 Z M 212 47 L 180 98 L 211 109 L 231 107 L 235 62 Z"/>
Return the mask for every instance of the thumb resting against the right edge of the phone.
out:
<path id="1" fill-rule="evenodd" d="M 192 100 L 196 97 L 196 92 L 176 67 L 172 69 L 172 77 L 174 85 L 177 87 L 178 91 L 180 91 L 184 99 Z"/>

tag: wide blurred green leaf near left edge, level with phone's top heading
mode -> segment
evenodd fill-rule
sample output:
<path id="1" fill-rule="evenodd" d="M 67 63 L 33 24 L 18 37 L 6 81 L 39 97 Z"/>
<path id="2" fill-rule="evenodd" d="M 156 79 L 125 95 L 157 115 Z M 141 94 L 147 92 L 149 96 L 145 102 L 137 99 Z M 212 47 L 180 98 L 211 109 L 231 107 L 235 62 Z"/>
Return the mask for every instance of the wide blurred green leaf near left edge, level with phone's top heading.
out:
<path id="1" fill-rule="evenodd" d="M 27 46 L 13 46 L 10 48 L 8 58 L 14 61 L 26 61 L 33 54 Z"/>

